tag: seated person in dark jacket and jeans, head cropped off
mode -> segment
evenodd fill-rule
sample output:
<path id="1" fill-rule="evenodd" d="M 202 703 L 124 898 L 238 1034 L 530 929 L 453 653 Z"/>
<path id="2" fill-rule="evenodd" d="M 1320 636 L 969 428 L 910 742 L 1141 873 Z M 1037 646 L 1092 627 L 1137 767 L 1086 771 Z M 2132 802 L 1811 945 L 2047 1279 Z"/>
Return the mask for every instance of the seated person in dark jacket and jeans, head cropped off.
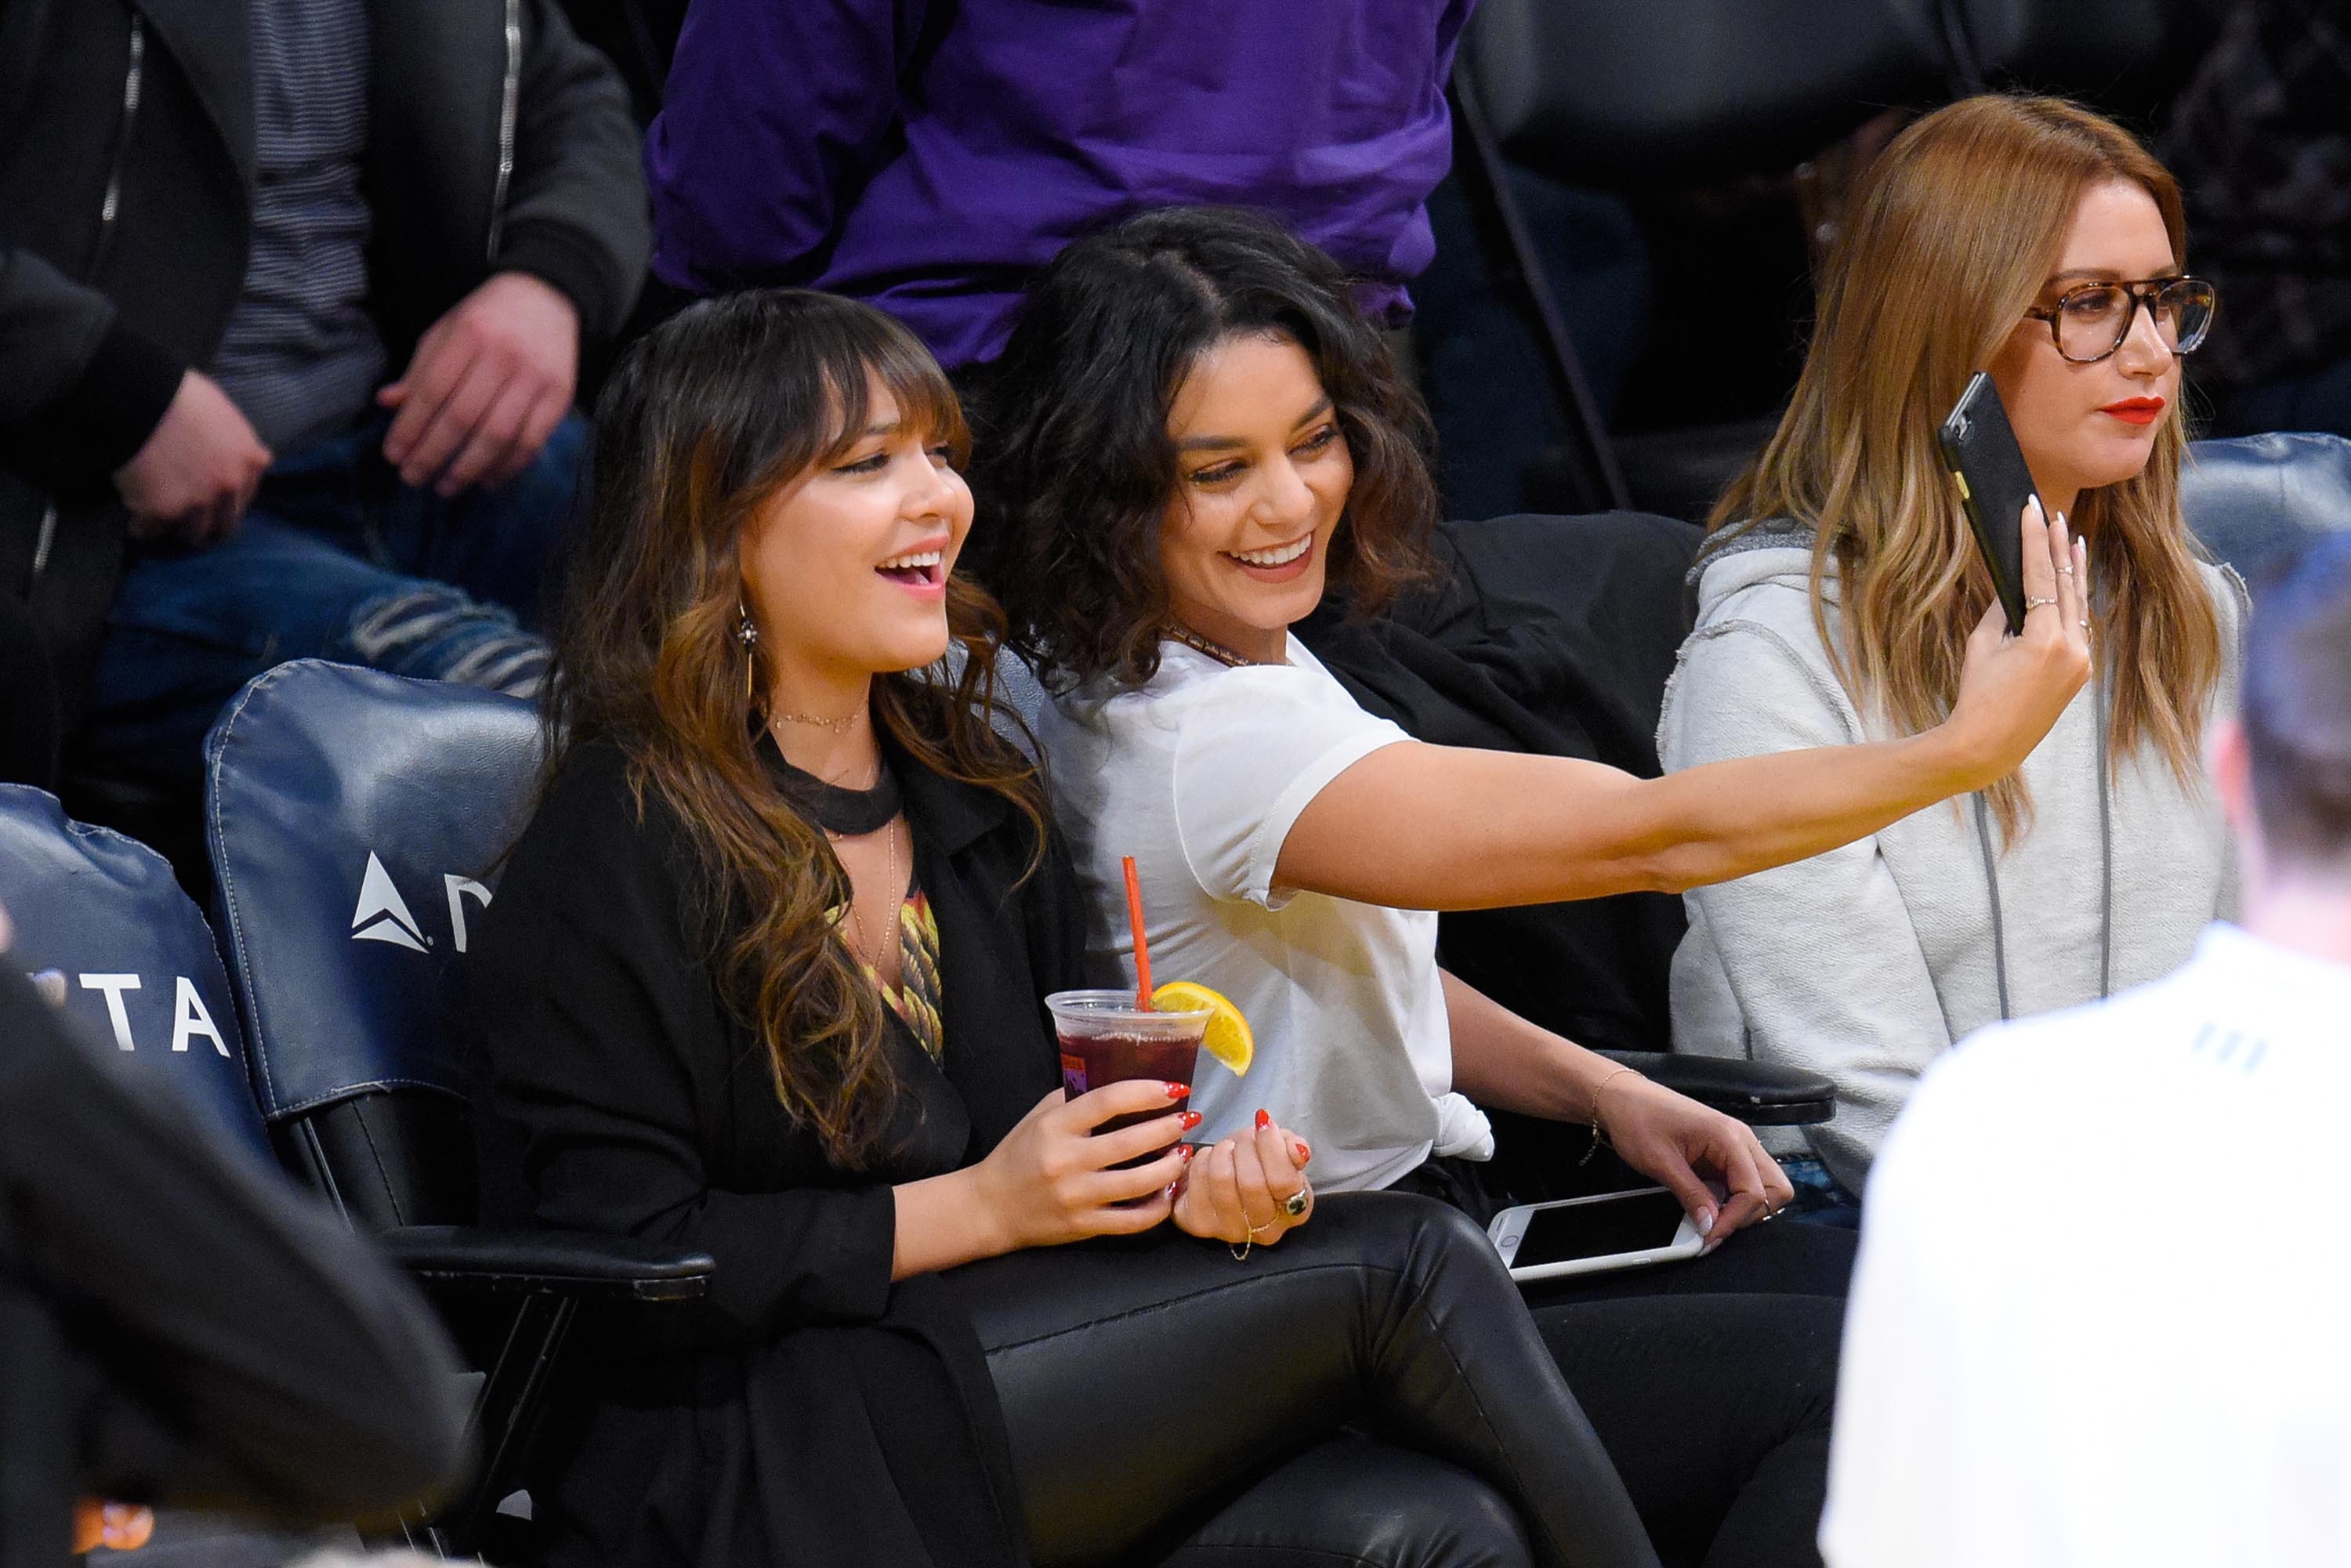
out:
<path id="1" fill-rule="evenodd" d="M 581 339 L 649 244 L 555 0 L 0 0 L 9 776 L 82 733 L 193 799 L 306 654 L 536 686 Z"/>

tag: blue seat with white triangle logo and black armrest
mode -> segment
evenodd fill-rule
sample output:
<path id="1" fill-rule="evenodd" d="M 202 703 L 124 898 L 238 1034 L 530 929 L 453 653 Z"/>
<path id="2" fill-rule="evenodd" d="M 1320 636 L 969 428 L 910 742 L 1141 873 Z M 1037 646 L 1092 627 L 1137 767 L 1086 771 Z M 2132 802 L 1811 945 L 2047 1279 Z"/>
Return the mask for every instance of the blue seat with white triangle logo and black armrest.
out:
<path id="1" fill-rule="evenodd" d="M 581 1302 L 684 1300 L 712 1272 L 623 1237 L 473 1225 L 458 957 L 538 757 L 529 703 L 322 661 L 256 677 L 205 748 L 221 940 L 270 1138 L 480 1347 L 480 1474 L 430 1526 L 449 1552 L 477 1549 Z"/>

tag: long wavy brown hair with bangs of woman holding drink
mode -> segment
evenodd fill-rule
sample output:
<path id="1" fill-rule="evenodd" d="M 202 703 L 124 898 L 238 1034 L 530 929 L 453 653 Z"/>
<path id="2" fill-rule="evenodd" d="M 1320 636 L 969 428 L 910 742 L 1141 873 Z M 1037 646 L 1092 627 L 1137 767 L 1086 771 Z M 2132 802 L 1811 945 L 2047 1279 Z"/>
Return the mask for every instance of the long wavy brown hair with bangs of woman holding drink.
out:
<path id="1" fill-rule="evenodd" d="M 898 1084 L 882 999 L 832 919 L 849 877 L 759 755 L 738 550 L 769 496 L 856 444 L 870 378 L 907 428 L 964 458 L 947 378 L 870 306 L 766 289 L 698 303 L 639 339 L 597 402 L 592 503 L 545 701 L 548 778 L 611 738 L 637 809 L 651 788 L 677 813 L 701 860 L 691 919 L 719 994 L 766 1048 L 785 1110 L 846 1168 L 884 1152 Z M 875 719 L 912 764 L 1004 795 L 1041 851 L 1037 769 L 990 724 L 1009 719 L 994 693 L 1004 616 L 957 576 L 947 628 L 950 658 L 877 672 Z"/>

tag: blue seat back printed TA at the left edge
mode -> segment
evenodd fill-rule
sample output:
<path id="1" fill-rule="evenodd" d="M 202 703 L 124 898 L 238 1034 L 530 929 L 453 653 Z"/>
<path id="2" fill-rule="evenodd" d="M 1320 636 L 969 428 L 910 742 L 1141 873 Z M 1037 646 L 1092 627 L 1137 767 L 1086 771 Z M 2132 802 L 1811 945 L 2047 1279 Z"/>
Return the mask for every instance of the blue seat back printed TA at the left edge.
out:
<path id="1" fill-rule="evenodd" d="M 162 856 L 75 823 L 45 790 L 0 785 L 0 905 L 16 926 L 0 961 L 268 1157 L 221 954 Z"/>

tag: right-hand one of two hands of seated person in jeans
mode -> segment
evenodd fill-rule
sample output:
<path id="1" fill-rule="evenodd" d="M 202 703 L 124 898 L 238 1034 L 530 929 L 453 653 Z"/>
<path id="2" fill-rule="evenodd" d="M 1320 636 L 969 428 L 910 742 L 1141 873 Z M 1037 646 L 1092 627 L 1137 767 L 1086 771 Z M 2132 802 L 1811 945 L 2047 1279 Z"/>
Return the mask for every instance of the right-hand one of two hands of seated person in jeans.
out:
<path id="1" fill-rule="evenodd" d="M 571 301 L 529 273 L 498 273 L 433 322 L 409 371 L 376 393 L 400 409 L 383 461 L 442 496 L 505 484 L 571 409 L 578 369 Z"/>

